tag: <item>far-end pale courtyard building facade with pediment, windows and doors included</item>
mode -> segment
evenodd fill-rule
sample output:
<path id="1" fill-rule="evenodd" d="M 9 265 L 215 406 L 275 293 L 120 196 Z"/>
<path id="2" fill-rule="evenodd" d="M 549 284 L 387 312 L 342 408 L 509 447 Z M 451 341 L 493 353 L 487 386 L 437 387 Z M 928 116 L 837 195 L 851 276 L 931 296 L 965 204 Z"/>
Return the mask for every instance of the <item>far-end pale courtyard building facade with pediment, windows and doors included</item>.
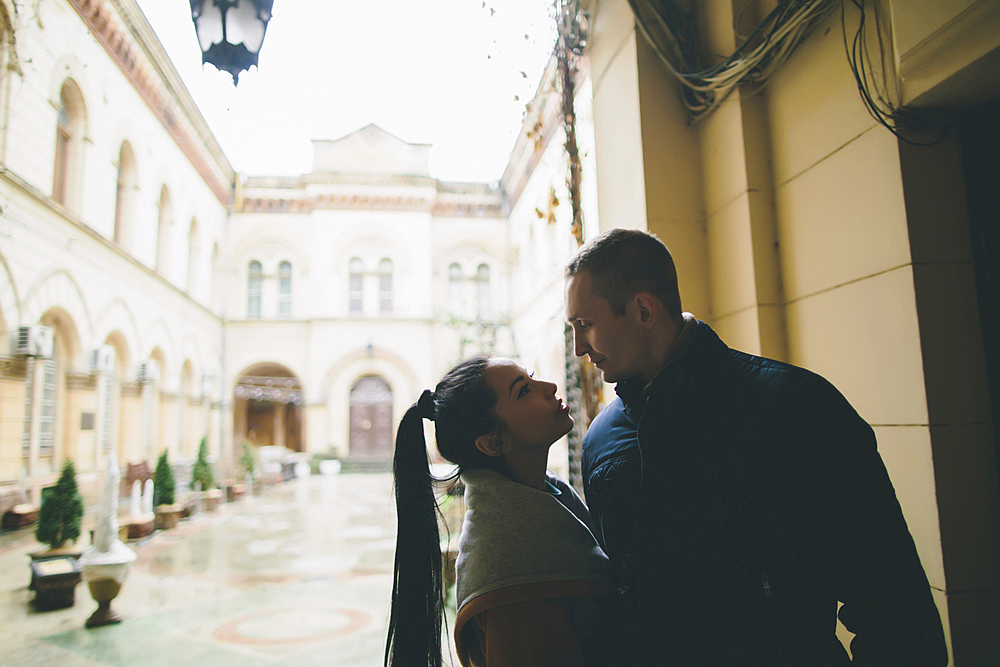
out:
<path id="1" fill-rule="evenodd" d="M 313 150 L 308 174 L 247 178 L 232 219 L 232 438 L 385 461 L 424 388 L 510 351 L 503 202 L 374 125 Z"/>

